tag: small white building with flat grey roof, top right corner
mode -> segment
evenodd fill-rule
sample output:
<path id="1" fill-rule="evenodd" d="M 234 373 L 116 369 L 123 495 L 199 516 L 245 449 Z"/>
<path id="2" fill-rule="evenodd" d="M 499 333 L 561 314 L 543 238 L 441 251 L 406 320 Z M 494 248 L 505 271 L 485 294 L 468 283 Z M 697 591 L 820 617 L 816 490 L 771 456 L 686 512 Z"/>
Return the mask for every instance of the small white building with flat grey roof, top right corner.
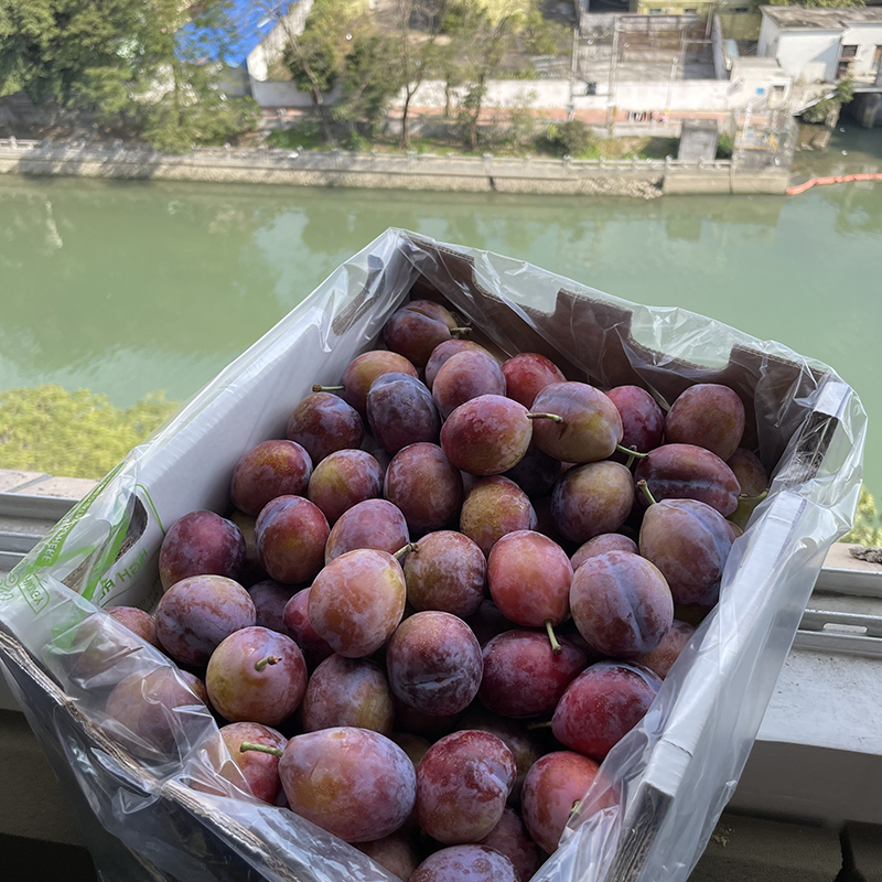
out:
<path id="1" fill-rule="evenodd" d="M 757 54 L 803 83 L 882 76 L 882 8 L 761 7 Z"/>

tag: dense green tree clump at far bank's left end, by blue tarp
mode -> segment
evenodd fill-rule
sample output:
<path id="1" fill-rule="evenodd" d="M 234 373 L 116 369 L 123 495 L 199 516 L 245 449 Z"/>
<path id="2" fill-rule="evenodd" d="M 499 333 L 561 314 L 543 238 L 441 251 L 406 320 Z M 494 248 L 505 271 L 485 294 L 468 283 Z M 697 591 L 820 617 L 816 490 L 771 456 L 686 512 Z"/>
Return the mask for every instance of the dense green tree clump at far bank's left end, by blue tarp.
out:
<path id="1" fill-rule="evenodd" d="M 0 0 L 0 95 L 87 109 L 100 123 L 186 149 L 250 125 L 219 89 L 230 0 Z"/>

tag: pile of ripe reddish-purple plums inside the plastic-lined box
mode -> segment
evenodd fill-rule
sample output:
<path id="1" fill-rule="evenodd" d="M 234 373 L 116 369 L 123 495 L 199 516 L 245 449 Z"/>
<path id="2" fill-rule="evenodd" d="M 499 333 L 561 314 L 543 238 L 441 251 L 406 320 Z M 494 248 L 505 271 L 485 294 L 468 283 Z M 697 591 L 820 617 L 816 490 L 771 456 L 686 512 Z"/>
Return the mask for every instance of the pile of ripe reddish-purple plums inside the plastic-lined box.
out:
<path id="1" fill-rule="evenodd" d="M 230 519 L 169 530 L 155 616 L 110 612 L 193 691 L 132 675 L 107 712 L 168 749 L 195 692 L 256 797 L 402 880 L 527 882 L 689 642 L 675 610 L 717 602 L 766 475 L 725 386 L 664 413 L 461 333 L 408 303 L 243 455 Z"/>

